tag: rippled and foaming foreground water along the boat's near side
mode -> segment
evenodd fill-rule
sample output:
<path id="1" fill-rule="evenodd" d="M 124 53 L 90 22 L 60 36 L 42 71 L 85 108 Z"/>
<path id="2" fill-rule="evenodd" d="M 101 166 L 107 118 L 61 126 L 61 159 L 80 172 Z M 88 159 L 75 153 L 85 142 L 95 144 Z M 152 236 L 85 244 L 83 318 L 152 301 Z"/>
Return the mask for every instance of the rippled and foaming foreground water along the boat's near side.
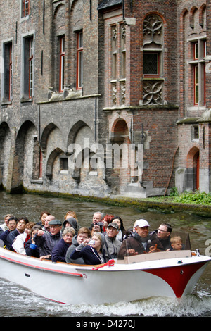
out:
<path id="1" fill-rule="evenodd" d="M 151 297 L 117 304 L 59 304 L 27 289 L 0 280 L 0 310 L 3 317 L 210 317 L 211 287 L 198 286 L 182 299 Z M 94 291 L 93 291 L 94 294 Z"/>

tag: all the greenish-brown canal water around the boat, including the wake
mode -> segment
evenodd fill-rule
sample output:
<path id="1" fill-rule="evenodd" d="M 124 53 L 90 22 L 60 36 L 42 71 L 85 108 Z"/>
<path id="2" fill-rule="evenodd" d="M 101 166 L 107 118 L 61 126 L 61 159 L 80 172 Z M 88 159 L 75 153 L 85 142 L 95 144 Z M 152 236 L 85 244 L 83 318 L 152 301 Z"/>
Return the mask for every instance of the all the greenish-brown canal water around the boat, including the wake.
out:
<path id="1" fill-rule="evenodd" d="M 132 227 L 134 221 L 145 218 L 151 230 L 160 223 L 167 222 L 173 227 L 174 235 L 181 235 L 185 241 L 189 233 L 191 249 L 199 249 L 200 254 L 211 255 L 211 218 L 192 213 L 143 212 L 134 208 L 108 206 L 101 203 L 77 201 L 70 198 L 57 198 L 35 194 L 7 194 L 0 192 L 0 220 L 3 223 L 7 213 L 17 217 L 27 216 L 38 222 L 41 211 L 49 211 L 57 219 L 64 220 L 65 213 L 73 210 L 81 226 L 89 226 L 95 211 L 121 216 L 124 227 Z M 184 299 L 165 297 L 149 298 L 131 303 L 101 305 L 65 305 L 44 299 L 24 287 L 1 279 L 0 275 L 0 316 L 1 317 L 76 317 L 94 318 L 110 316 L 120 318 L 137 317 L 210 317 L 211 316 L 211 263 L 203 273 L 193 293 Z M 58 284 L 59 286 L 59 284 Z M 108 286 L 108 284 L 102 284 Z M 120 289 L 127 291 L 127 287 Z"/>

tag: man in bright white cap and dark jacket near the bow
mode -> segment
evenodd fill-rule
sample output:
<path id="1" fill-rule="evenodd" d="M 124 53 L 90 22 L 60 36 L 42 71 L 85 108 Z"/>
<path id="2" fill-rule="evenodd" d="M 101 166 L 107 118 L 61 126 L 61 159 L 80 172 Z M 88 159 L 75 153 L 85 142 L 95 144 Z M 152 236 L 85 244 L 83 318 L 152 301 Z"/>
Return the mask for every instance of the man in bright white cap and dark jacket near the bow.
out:
<path id="1" fill-rule="evenodd" d="M 136 220 L 134 223 L 135 232 L 127 237 L 120 246 L 119 259 L 124 259 L 124 256 L 149 253 L 156 249 L 163 250 L 156 236 L 149 234 L 149 226 L 147 220 Z"/>

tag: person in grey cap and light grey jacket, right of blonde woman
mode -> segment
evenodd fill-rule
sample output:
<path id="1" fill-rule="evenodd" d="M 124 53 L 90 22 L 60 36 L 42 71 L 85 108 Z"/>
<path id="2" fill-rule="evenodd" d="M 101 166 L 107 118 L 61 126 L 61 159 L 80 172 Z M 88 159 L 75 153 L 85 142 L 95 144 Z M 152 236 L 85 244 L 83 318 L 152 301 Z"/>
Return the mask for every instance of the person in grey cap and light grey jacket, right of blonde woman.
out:
<path id="1" fill-rule="evenodd" d="M 120 250 L 120 246 L 122 245 L 122 242 L 120 240 L 117 240 L 117 233 L 119 232 L 119 227 L 117 223 L 109 223 L 108 227 L 106 229 L 106 256 L 108 256 L 108 259 L 111 258 L 117 258 L 118 252 Z"/>

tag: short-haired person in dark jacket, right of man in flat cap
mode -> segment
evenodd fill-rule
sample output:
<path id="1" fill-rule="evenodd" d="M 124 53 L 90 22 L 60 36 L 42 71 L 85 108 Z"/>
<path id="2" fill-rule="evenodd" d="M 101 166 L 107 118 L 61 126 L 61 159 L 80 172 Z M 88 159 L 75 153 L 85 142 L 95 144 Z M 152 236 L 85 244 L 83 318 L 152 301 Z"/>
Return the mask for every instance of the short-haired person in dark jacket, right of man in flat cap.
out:
<path id="1" fill-rule="evenodd" d="M 65 230 L 63 231 L 62 239 L 60 239 L 60 241 L 53 247 L 51 254 L 51 260 L 53 262 L 65 262 L 66 252 L 72 244 L 72 238 L 74 237 L 74 235 L 75 229 L 73 229 L 73 227 L 65 228 Z"/>

